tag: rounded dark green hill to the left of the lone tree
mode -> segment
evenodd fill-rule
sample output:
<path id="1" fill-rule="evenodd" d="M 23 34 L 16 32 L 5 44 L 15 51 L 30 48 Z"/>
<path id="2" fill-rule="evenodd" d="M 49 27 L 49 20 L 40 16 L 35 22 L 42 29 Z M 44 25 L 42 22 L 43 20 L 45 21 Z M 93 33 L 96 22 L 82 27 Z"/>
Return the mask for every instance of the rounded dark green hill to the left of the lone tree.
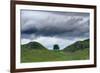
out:
<path id="1" fill-rule="evenodd" d="M 38 42 L 30 42 L 28 44 L 24 44 L 24 45 L 21 45 L 22 48 L 28 48 L 28 49 L 46 49 L 43 45 L 41 45 L 40 43 Z"/>

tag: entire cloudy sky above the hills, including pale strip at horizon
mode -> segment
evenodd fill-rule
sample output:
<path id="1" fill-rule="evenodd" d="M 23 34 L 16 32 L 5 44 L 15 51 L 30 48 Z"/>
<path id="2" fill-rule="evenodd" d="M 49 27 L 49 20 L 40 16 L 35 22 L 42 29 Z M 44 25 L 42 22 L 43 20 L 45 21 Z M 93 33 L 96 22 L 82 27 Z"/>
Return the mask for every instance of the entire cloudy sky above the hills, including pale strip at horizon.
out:
<path id="1" fill-rule="evenodd" d="M 21 44 L 32 41 L 60 49 L 89 38 L 89 13 L 21 10 Z"/>

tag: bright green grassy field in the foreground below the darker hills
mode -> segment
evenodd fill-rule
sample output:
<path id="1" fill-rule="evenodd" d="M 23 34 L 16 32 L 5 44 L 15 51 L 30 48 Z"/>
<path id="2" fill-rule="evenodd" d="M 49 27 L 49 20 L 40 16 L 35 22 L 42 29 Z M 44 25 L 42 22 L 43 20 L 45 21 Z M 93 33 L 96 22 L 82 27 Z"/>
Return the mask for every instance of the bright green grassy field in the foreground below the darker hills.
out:
<path id="1" fill-rule="evenodd" d="M 21 62 L 47 62 L 89 59 L 89 50 L 83 49 L 75 52 L 63 50 L 45 50 L 21 48 Z"/>

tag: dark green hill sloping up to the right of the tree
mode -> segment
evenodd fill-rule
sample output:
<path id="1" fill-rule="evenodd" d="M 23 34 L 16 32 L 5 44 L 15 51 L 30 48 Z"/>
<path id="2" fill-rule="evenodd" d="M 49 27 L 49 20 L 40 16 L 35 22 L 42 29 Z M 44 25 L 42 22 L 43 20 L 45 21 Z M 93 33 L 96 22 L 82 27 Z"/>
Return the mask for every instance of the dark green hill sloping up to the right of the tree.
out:
<path id="1" fill-rule="evenodd" d="M 83 40 L 83 41 L 77 41 L 67 47 L 64 48 L 64 51 L 70 51 L 74 52 L 77 50 L 83 50 L 83 49 L 89 48 L 89 39 Z"/>

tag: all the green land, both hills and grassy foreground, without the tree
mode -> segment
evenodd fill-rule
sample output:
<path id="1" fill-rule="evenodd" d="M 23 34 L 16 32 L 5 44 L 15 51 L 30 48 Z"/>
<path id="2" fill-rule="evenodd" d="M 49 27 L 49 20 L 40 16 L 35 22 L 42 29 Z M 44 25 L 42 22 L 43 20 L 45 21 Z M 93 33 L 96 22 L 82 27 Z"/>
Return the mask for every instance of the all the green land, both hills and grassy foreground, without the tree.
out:
<path id="1" fill-rule="evenodd" d="M 30 42 L 28 44 L 21 45 L 22 63 L 85 59 L 89 59 L 88 39 L 84 41 L 77 41 L 64 48 L 64 50 L 48 50 L 38 42 Z"/>

